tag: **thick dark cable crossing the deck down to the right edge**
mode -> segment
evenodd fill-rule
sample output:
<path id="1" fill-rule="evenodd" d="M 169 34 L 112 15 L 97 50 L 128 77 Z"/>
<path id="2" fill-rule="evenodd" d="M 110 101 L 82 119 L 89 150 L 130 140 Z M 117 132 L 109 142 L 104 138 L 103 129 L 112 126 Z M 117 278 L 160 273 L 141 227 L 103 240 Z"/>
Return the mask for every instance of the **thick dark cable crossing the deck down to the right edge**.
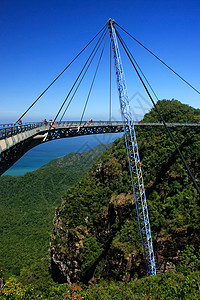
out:
<path id="1" fill-rule="evenodd" d="M 163 119 L 163 117 L 162 117 L 160 111 L 159 111 L 158 108 L 157 108 L 157 105 L 155 104 L 153 98 L 151 97 L 151 95 L 150 95 L 150 93 L 149 93 L 149 91 L 148 91 L 148 89 L 147 89 L 147 87 L 146 87 L 146 85 L 145 85 L 145 83 L 144 83 L 142 77 L 140 76 L 140 74 L 139 74 L 139 72 L 138 72 L 138 70 L 137 70 L 137 68 L 136 68 L 136 66 L 135 66 L 135 64 L 134 64 L 134 62 L 133 62 L 133 60 L 131 59 L 131 57 L 130 57 L 130 55 L 129 55 L 127 49 L 126 49 L 126 48 L 128 48 L 128 47 L 125 46 L 125 42 L 121 39 L 120 36 L 118 36 L 118 38 L 119 38 L 119 41 L 120 41 L 121 45 L 123 46 L 123 48 L 124 48 L 124 50 L 125 50 L 125 52 L 126 52 L 128 58 L 129 58 L 129 60 L 130 60 L 131 64 L 133 65 L 133 67 L 134 67 L 134 69 L 135 69 L 135 71 L 136 71 L 136 73 L 137 73 L 137 75 L 138 75 L 138 77 L 139 77 L 139 79 L 140 79 L 140 81 L 141 81 L 141 83 L 142 83 L 142 85 L 143 85 L 143 87 L 144 87 L 144 89 L 145 89 L 147 95 L 149 96 L 151 102 L 153 103 L 154 108 L 156 109 L 158 115 L 160 116 L 160 119 L 162 120 L 163 125 L 164 125 L 165 129 L 167 130 L 167 132 L 168 132 L 168 134 L 169 134 L 169 136 L 170 136 L 170 138 L 171 138 L 171 140 L 172 140 L 172 142 L 173 142 L 173 144 L 174 144 L 176 150 L 178 151 L 179 156 L 180 156 L 180 158 L 182 159 L 182 161 L 183 161 L 183 163 L 184 163 L 184 165 L 185 165 L 185 168 L 186 168 L 186 170 L 188 171 L 188 174 L 190 175 L 190 178 L 191 178 L 191 180 L 192 180 L 192 182 L 193 182 L 193 184 L 194 184 L 194 186 L 195 186 L 197 192 L 200 194 L 200 189 L 199 189 L 199 187 L 198 187 L 198 185 L 197 185 L 197 183 L 196 183 L 196 181 L 195 181 L 195 179 L 194 179 L 194 177 L 193 177 L 193 175 L 192 175 L 192 173 L 191 173 L 191 171 L 190 171 L 190 169 L 189 169 L 189 167 L 188 167 L 188 165 L 187 165 L 187 163 L 186 163 L 186 161 L 185 161 L 185 159 L 184 159 L 184 157 L 183 157 L 183 155 L 182 155 L 182 153 L 181 153 L 181 151 L 180 151 L 180 149 L 179 149 L 179 147 L 178 147 L 178 145 L 176 144 L 176 142 L 175 142 L 175 140 L 174 140 L 174 138 L 173 138 L 173 135 L 172 135 L 171 131 L 169 130 L 167 124 L 165 123 L 165 121 L 164 121 L 164 119 Z"/>

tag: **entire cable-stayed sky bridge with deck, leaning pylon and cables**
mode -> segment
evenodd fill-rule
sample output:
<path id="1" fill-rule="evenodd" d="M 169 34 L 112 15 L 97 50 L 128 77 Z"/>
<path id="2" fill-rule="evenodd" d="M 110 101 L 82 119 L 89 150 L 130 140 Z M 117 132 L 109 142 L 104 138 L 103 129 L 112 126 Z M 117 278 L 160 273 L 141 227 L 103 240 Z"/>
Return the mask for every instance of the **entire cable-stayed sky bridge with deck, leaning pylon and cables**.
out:
<path id="1" fill-rule="evenodd" d="M 124 30 L 119 24 L 114 20 L 109 19 L 107 24 L 96 34 L 96 36 L 83 48 L 79 54 L 63 69 L 63 71 L 50 83 L 50 85 L 39 95 L 39 97 L 26 109 L 24 113 L 16 120 L 15 125 L 4 124 L 0 125 L 0 175 L 3 174 L 10 166 L 12 166 L 19 158 L 21 158 L 27 151 L 33 147 L 46 143 L 52 140 L 91 135 L 91 134 L 107 134 L 107 133 L 119 133 L 124 132 L 125 144 L 128 156 L 129 170 L 133 188 L 133 197 L 135 200 L 135 206 L 138 216 L 139 230 L 141 234 L 141 241 L 143 245 L 144 258 L 147 268 L 148 275 L 156 275 L 156 266 L 153 252 L 153 244 L 151 237 L 150 222 L 148 217 L 148 209 L 146 202 L 146 194 L 144 189 L 144 182 L 142 176 L 142 168 L 139 157 L 139 149 L 137 145 L 137 139 L 135 134 L 135 127 L 160 127 L 167 131 L 171 141 L 173 142 L 176 150 L 178 151 L 185 168 L 187 169 L 194 186 L 197 191 L 200 193 L 199 187 L 191 174 L 187 163 L 180 152 L 178 145 L 176 144 L 172 133 L 170 132 L 170 127 L 200 127 L 200 123 L 167 123 L 163 119 L 157 105 L 156 101 L 159 100 L 146 76 L 144 75 L 142 69 L 138 65 L 135 57 L 132 55 L 130 49 L 128 48 L 125 40 L 122 38 L 118 29 L 121 29 L 123 33 L 126 33 L 132 40 L 136 41 L 140 46 L 147 50 L 154 58 L 159 60 L 165 67 L 167 67 L 172 73 L 179 77 L 185 84 L 192 88 L 195 92 L 200 94 L 200 92 L 193 87 L 189 82 L 187 82 L 182 76 L 175 72 L 171 67 L 169 67 L 164 61 L 158 58 L 153 52 L 151 52 L 147 47 L 141 44 L 136 40 L 132 35 L 130 35 L 126 30 Z M 109 121 L 83 121 L 87 117 L 85 112 L 88 106 L 88 102 L 93 90 L 94 82 L 96 75 L 98 73 L 99 65 L 104 53 L 104 49 L 107 43 L 108 37 L 110 36 L 110 93 L 109 93 Z M 54 85 L 54 83 L 60 78 L 60 76 L 71 66 L 71 64 L 85 51 L 85 49 L 92 44 L 94 40 L 97 40 L 93 50 L 91 51 L 89 57 L 87 58 L 84 66 L 82 67 L 80 73 L 76 77 L 70 91 L 62 102 L 60 108 L 58 109 L 55 117 L 50 122 L 47 122 L 46 119 L 44 122 L 31 122 L 24 123 L 22 125 L 22 119 L 30 111 L 30 109 L 35 106 L 35 104 L 40 100 L 40 98 L 49 90 L 49 88 Z M 118 44 L 119 41 L 119 44 Z M 160 122 L 134 122 L 132 116 L 132 110 L 130 107 L 130 98 L 128 97 L 127 85 L 121 60 L 121 54 L 119 50 L 119 45 L 124 50 L 125 55 L 127 56 L 132 69 L 137 75 L 137 79 L 141 86 L 144 88 L 148 98 L 152 102 L 152 106 L 155 112 L 159 115 Z M 100 49 L 100 50 L 99 50 Z M 98 52 L 99 51 L 99 52 Z M 79 121 L 63 121 L 65 119 L 66 112 L 68 113 L 68 108 L 71 105 L 74 96 L 76 95 L 77 90 L 79 89 L 82 80 L 85 77 L 94 57 L 98 53 L 99 58 L 97 60 L 96 68 L 93 74 L 92 82 L 86 96 L 85 103 L 83 105 L 83 110 Z M 117 91 L 120 104 L 120 113 L 122 121 L 112 121 L 111 117 L 111 57 L 113 56 L 113 65 L 115 69 L 116 81 L 117 81 Z M 81 97 L 82 98 L 82 97 Z M 76 105 L 75 110 L 77 110 L 81 105 Z M 49 107 L 51 107 L 49 105 Z M 103 107 L 103 105 L 102 105 Z M 104 107 L 103 107 L 104 108 Z M 96 111 L 95 107 L 95 111 Z M 39 110 L 38 110 L 39 113 Z M 60 121 L 58 122 L 58 119 Z M 29 119 L 30 120 L 30 119 Z M 195 119 L 196 120 L 196 119 Z"/>

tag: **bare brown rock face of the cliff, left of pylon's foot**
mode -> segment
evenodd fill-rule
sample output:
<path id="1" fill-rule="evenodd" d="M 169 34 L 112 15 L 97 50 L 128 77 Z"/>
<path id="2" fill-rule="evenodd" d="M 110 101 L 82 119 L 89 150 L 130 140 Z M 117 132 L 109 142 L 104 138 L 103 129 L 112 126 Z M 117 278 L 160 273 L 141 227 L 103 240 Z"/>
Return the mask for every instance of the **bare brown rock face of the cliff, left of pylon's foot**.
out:
<path id="1" fill-rule="evenodd" d="M 113 277 L 113 272 L 115 272 L 116 279 L 127 281 L 138 267 L 140 270 L 137 271 L 140 274 L 145 273 L 143 262 L 140 266 L 136 266 L 134 253 L 125 255 L 123 251 L 112 245 L 113 238 L 127 217 L 130 216 L 133 208 L 132 195 L 121 194 L 112 197 L 108 211 L 94 222 L 93 232 L 83 226 L 69 229 L 66 226 L 67 220 L 62 219 L 57 210 L 50 250 L 50 270 L 54 280 L 68 284 L 80 280 L 87 283 L 90 280 L 96 281 L 100 277 Z M 91 235 L 94 235 L 97 243 L 102 246 L 101 251 L 94 262 L 89 263 L 90 266 L 86 270 L 82 270 L 81 255 L 84 240 Z M 98 276 L 95 276 L 96 267 L 102 261 L 104 263 L 101 271 Z"/>

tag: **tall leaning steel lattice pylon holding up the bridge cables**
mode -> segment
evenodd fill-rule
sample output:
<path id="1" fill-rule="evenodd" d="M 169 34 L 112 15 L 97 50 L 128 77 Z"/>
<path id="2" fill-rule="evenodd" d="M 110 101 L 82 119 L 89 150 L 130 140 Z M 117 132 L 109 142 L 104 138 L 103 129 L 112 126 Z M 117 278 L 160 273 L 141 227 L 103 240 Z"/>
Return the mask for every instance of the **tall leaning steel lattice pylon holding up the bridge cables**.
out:
<path id="1" fill-rule="evenodd" d="M 147 201 L 142 177 L 142 169 L 138 152 L 136 134 L 133 124 L 132 113 L 129 105 L 126 81 L 119 52 L 114 20 L 108 20 L 111 45 L 113 49 L 115 71 L 117 77 L 117 87 L 119 93 L 121 116 L 124 127 L 126 150 L 129 161 L 133 194 L 138 216 L 139 229 L 143 245 L 144 257 L 148 275 L 156 275 L 156 266 L 151 238 L 151 229 L 147 209 Z"/>

